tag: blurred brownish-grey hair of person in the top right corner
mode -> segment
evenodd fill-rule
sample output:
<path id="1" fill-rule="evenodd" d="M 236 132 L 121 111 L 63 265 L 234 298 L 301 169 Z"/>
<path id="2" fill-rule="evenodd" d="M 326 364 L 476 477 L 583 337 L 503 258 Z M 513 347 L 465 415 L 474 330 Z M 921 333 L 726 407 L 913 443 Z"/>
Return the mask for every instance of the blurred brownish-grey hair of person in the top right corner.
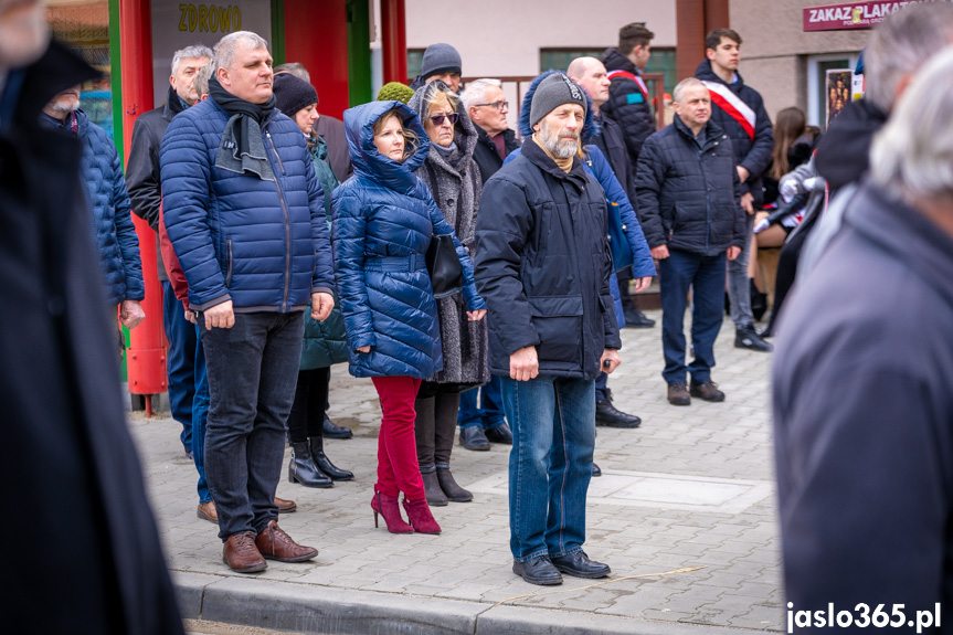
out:
<path id="1" fill-rule="evenodd" d="M 864 52 L 866 98 L 889 113 L 897 86 L 953 42 L 953 4 L 909 4 L 883 21 Z"/>

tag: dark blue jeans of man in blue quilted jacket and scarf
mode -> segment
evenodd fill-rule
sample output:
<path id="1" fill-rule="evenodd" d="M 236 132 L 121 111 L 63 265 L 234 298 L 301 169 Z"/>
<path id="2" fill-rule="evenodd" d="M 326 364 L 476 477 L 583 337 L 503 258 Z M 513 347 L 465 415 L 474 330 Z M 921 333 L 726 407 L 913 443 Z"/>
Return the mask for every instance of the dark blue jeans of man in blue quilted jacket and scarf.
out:
<path id="1" fill-rule="evenodd" d="M 205 474 L 219 512 L 219 538 L 261 533 L 278 517 L 275 490 L 285 452 L 305 318 L 235 314 L 232 328 L 205 329 L 199 317 L 209 378 Z"/>

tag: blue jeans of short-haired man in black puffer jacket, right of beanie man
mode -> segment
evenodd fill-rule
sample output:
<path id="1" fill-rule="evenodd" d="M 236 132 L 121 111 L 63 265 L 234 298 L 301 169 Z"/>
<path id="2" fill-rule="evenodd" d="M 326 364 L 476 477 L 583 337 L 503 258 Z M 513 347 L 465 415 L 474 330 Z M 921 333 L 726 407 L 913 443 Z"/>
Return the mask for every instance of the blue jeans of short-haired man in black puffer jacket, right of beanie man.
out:
<path id="1" fill-rule="evenodd" d="M 724 310 L 724 252 L 702 256 L 670 250 L 658 261 L 661 286 L 661 350 L 665 370 L 661 377 L 669 384 L 685 383 L 686 370 L 692 381 L 711 379 L 714 367 L 714 338 L 721 329 Z M 685 366 L 685 309 L 691 289 L 691 343 L 695 359 Z"/>

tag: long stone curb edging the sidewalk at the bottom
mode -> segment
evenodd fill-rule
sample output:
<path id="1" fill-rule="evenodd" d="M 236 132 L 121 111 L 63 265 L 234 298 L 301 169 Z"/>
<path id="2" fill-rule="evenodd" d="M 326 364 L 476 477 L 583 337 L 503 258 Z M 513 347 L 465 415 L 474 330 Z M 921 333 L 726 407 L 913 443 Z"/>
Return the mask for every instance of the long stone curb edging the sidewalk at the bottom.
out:
<path id="1" fill-rule="evenodd" d="M 184 620 L 333 635 L 750 635 L 758 631 L 173 572 Z"/>

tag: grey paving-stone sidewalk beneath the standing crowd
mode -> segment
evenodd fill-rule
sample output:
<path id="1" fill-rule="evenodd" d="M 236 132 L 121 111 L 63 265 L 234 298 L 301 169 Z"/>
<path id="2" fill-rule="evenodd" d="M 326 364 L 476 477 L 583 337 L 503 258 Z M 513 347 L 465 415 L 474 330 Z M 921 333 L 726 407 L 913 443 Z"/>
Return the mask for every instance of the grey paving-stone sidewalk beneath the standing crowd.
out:
<path id="1" fill-rule="evenodd" d="M 649 315 L 660 319 L 659 311 Z M 441 536 L 392 536 L 383 522 L 374 529 L 369 502 L 380 406 L 371 382 L 351 378 L 346 364 L 332 371 L 330 415 L 350 426 L 354 437 L 328 440 L 325 449 L 338 466 L 353 470 L 356 479 L 331 489 L 292 485 L 286 454 L 278 496 L 296 500 L 298 510 L 283 515 L 282 527 L 297 541 L 317 547 L 320 554 L 305 564 L 269 562 L 267 571 L 255 576 L 229 571 L 222 563 L 216 528 L 195 517 L 194 466 L 178 441 L 180 426 L 161 419 L 163 413 L 152 420 L 131 414 L 130 426 L 186 616 L 195 618 L 201 613 L 202 618 L 250 626 L 307 631 L 310 624 L 327 632 L 359 632 L 353 624 L 331 627 L 317 617 L 308 622 L 303 617 L 308 599 L 320 599 L 313 604 L 326 618 L 333 613 L 333 602 L 364 605 L 380 600 L 384 613 L 388 606 L 430 611 L 437 624 L 440 615 L 454 613 L 455 607 L 460 615 L 469 611 L 477 615 L 505 602 L 491 612 L 498 625 L 486 632 L 536 632 L 527 625 L 532 623 L 582 632 L 583 622 L 595 620 L 597 625 L 601 616 L 617 618 L 604 625 L 623 624 L 620 633 L 722 632 L 702 626 L 724 632 L 782 631 L 785 613 L 769 414 L 772 356 L 735 349 L 733 341 L 734 328 L 726 320 L 716 343 L 719 364 L 712 377 L 727 401 L 695 400 L 691 406 L 676 408 L 667 403 L 660 377 L 660 325 L 623 331 L 623 366 L 611 375 L 610 388 L 616 406 L 642 416 L 643 425 L 597 432 L 595 461 L 604 476 L 590 487 L 585 549 L 612 565 L 612 579 L 605 584 L 566 578 L 560 588 L 539 588 L 512 574 L 508 446 L 494 445 L 490 452 L 454 447 L 454 474 L 475 493 L 475 500 L 434 509 Z M 701 569 L 632 578 L 687 568 Z M 209 599 L 214 589 L 227 591 L 231 603 L 213 606 Z M 283 606 L 285 621 L 279 615 Z M 349 611 L 353 614 L 353 606 Z M 521 621 L 527 624 L 520 626 Z M 455 632 L 451 622 L 433 632 Z M 476 632 L 467 628 L 464 624 L 460 632 Z M 560 632 L 550 628 L 544 632 Z M 374 632 L 417 631 L 395 623 L 392 629 Z"/>

